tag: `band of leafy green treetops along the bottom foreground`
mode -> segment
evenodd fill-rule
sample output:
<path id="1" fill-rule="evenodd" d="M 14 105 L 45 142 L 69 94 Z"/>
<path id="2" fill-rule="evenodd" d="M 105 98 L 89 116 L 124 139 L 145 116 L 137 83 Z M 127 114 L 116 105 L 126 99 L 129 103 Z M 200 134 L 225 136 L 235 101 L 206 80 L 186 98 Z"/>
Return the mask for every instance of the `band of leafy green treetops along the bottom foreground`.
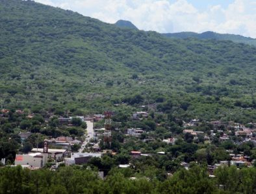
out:
<path id="1" fill-rule="evenodd" d="M 209 177 L 205 168 L 180 169 L 161 181 L 155 169 L 145 169 L 129 178 L 134 169 L 112 169 L 101 180 L 84 167 L 60 167 L 57 171 L 31 171 L 18 167 L 0 168 L 0 193 L 255 193 L 256 168 L 219 168 Z M 149 178 L 149 176 L 151 176 Z"/>

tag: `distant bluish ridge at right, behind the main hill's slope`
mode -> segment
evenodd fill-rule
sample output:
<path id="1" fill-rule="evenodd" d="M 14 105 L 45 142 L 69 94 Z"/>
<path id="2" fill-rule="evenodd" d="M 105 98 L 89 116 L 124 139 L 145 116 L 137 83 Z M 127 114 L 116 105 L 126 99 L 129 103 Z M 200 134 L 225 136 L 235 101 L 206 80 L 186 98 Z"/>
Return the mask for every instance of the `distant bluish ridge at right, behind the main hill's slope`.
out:
<path id="1" fill-rule="evenodd" d="M 198 39 L 230 40 L 235 43 L 245 43 L 248 45 L 256 46 L 256 39 L 235 35 L 235 34 L 218 34 L 216 32 L 211 32 L 211 31 L 203 32 L 201 34 L 198 34 L 196 32 L 177 32 L 177 33 L 166 33 L 162 35 L 168 38 L 181 38 L 181 39 L 198 38 Z"/>

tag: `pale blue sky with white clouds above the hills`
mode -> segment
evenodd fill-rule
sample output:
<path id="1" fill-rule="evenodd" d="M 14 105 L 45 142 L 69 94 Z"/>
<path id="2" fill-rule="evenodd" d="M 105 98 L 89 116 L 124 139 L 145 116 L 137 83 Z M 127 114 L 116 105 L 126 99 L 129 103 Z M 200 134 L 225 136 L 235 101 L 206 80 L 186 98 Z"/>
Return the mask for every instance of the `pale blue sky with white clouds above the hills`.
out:
<path id="1" fill-rule="evenodd" d="M 240 34 L 256 38 L 256 0 L 35 0 L 140 30 Z"/>

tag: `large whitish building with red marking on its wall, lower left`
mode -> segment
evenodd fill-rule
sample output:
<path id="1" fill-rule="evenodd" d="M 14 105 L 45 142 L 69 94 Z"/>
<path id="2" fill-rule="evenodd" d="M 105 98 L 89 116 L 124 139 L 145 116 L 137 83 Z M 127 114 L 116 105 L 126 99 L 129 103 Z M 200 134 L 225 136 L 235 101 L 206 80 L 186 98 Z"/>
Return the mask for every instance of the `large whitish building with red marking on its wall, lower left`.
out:
<path id="1" fill-rule="evenodd" d="M 47 162 L 47 153 L 29 153 L 28 155 L 16 155 L 15 165 L 44 167 Z"/>

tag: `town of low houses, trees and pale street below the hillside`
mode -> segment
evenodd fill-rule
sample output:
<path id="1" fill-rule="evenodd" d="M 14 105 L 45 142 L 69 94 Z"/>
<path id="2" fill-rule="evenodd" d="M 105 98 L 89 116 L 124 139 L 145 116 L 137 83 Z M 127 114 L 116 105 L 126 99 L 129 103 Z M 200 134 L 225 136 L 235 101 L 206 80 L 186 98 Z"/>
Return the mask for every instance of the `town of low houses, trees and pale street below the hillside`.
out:
<path id="1" fill-rule="evenodd" d="M 18 148 L 2 148 L 1 165 L 51 170 L 58 166 L 97 167 L 102 178 L 113 166 L 137 169 L 142 160 L 158 161 L 166 176 L 182 167 L 189 169 L 193 162 L 207 166 L 210 176 L 220 166 L 256 165 L 255 123 L 186 122 L 144 110 L 132 113 L 125 122 L 118 116 L 110 111 L 64 116 L 1 109 L 8 142 L 15 141 Z M 107 159 L 112 162 L 103 167 Z"/>

